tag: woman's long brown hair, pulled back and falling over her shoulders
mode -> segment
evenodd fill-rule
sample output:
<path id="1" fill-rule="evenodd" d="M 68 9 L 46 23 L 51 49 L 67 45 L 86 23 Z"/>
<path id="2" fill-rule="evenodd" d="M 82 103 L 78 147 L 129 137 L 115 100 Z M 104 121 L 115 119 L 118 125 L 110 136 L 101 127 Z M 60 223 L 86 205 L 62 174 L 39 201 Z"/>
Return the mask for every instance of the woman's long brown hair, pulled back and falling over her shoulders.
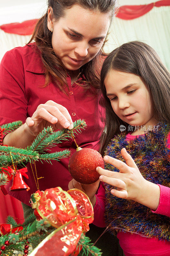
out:
<path id="1" fill-rule="evenodd" d="M 66 9 L 71 8 L 74 4 L 78 4 L 88 10 L 100 11 L 103 13 L 110 12 L 111 22 L 115 13 L 116 2 L 117 0 L 48 0 L 48 8 L 52 8 L 53 17 L 56 21 L 64 16 Z M 48 30 L 47 18 L 48 11 L 40 20 L 38 20 L 33 32 L 33 36 L 31 37 L 28 44 L 34 40 L 41 52 L 41 59 L 46 68 L 46 82 L 44 86 L 48 85 L 50 80 L 52 80 L 54 83 L 57 81 L 57 86 L 59 86 L 60 89 L 64 92 L 64 85 L 67 84 L 67 71 L 61 60 L 55 55 L 53 51 L 51 43 L 52 33 Z M 103 59 L 101 57 L 103 55 L 102 49 L 91 61 L 80 68 L 81 76 L 84 75 L 86 78 L 87 87 L 88 84 L 91 84 L 95 88 L 99 87 L 100 73 L 98 71 L 99 68 L 97 67 L 99 67 Z"/>

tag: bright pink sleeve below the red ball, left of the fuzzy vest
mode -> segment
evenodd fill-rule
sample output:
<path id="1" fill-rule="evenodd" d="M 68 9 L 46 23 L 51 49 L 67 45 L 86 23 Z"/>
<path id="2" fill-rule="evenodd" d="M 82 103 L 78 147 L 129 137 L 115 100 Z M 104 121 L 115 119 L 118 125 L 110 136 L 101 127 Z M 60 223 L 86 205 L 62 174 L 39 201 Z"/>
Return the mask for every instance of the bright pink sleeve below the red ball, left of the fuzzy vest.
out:
<path id="1" fill-rule="evenodd" d="M 96 195 L 96 204 L 94 206 L 94 220 L 93 224 L 97 227 L 104 228 L 106 226 L 104 221 L 105 212 L 105 189 L 100 185 Z"/>

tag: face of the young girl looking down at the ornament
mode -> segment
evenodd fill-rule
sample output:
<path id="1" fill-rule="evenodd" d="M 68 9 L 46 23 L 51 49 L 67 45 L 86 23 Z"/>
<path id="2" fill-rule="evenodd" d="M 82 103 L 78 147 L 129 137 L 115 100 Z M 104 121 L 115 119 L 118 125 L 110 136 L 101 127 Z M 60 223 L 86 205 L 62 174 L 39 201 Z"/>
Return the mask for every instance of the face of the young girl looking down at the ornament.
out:
<path id="1" fill-rule="evenodd" d="M 115 114 L 131 126 L 155 125 L 149 92 L 139 76 L 110 70 L 105 78 L 107 97 Z"/>

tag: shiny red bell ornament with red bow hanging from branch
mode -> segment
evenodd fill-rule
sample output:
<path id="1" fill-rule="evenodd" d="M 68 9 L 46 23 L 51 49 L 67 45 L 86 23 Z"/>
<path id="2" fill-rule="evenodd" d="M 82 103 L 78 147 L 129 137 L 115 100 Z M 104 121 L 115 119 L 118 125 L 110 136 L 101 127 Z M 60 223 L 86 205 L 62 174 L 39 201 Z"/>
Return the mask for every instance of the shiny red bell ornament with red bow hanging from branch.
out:
<path id="1" fill-rule="evenodd" d="M 28 175 L 25 172 L 27 172 L 26 167 L 20 170 L 16 170 L 15 175 L 13 175 L 13 182 L 10 191 L 30 189 L 22 178 L 22 175 L 24 175 L 28 179 Z"/>

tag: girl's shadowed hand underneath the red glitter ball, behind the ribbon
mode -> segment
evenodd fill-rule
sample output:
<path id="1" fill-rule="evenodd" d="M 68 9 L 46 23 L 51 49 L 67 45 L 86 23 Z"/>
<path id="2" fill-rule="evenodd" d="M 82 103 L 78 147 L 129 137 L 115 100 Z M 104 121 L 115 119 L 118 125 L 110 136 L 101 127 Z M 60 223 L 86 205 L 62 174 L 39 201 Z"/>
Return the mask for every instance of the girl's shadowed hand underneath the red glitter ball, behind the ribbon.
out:
<path id="1" fill-rule="evenodd" d="M 72 179 L 69 182 L 68 186 L 69 186 L 69 189 L 77 188 L 77 189 L 83 191 L 89 197 L 89 199 L 92 203 L 92 206 L 94 207 L 95 203 L 96 203 L 95 194 L 99 187 L 99 183 L 100 183 L 100 180 L 97 180 L 96 182 L 94 182 L 92 184 L 82 184 L 82 183 L 79 183 L 78 181 Z"/>

